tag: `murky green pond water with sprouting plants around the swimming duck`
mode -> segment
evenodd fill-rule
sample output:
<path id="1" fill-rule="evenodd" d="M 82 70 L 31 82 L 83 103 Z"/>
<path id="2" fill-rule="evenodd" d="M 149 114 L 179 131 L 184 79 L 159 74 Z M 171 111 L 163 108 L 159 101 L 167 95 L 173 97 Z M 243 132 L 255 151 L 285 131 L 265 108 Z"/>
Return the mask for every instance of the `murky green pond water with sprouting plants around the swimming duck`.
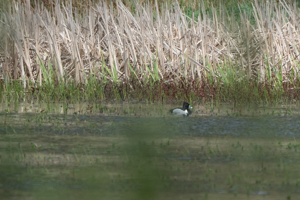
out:
<path id="1" fill-rule="evenodd" d="M 0 105 L 1 199 L 299 199 L 300 109 Z"/>

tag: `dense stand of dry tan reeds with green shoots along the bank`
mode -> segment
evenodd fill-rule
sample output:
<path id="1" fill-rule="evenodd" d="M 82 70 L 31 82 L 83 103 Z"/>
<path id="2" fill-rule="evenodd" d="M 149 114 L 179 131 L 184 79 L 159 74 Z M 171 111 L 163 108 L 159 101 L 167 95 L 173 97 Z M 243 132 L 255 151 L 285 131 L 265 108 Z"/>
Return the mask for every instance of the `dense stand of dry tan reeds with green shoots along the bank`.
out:
<path id="1" fill-rule="evenodd" d="M 202 1 L 191 16 L 177 1 L 133 3 L 134 11 L 120 0 L 48 6 L 10 1 L 1 10 L 0 79 L 6 94 L 17 80 L 24 90 L 115 84 L 130 93 L 143 85 L 164 88 L 161 83 L 167 90 L 184 85 L 192 93 L 178 95 L 187 100 L 238 100 L 239 93 L 260 101 L 300 98 L 295 1 L 255 0 L 251 11 L 238 6 L 238 15 L 222 3 L 208 7 Z M 177 97 L 170 93 L 172 98 Z"/>

